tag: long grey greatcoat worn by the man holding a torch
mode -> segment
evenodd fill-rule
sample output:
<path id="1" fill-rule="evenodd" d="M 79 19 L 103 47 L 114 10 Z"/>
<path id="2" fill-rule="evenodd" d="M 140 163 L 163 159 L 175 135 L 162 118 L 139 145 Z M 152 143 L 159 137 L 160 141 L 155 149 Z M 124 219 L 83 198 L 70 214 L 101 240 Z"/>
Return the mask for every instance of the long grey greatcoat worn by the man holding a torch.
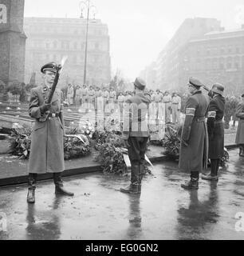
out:
<path id="1" fill-rule="evenodd" d="M 31 137 L 30 173 L 58 173 L 65 170 L 64 162 L 64 118 L 61 94 L 55 91 L 51 102 L 50 116 L 40 122 L 40 106 L 48 98 L 49 87 L 43 85 L 33 88 L 30 94 L 29 114 L 35 118 Z"/>

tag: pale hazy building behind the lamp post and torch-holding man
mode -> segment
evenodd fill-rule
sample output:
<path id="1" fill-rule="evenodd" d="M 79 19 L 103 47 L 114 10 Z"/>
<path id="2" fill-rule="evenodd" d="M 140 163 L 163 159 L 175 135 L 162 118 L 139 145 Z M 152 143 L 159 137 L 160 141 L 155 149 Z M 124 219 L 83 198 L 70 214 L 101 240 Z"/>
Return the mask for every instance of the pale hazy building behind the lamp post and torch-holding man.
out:
<path id="1" fill-rule="evenodd" d="M 47 62 L 60 62 L 68 56 L 59 84 L 83 84 L 85 66 L 86 19 L 25 18 L 26 82 L 35 74 L 41 82 L 40 68 Z M 99 19 L 89 20 L 87 74 L 88 85 L 110 82 L 110 46 L 108 26 Z"/>

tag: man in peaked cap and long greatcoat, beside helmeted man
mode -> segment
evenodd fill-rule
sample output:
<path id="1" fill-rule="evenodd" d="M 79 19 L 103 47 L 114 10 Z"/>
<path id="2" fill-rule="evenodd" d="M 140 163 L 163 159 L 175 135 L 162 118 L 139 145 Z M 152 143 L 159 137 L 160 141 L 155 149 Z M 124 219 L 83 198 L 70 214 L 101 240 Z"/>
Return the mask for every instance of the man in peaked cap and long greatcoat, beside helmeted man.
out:
<path id="1" fill-rule="evenodd" d="M 188 89 L 190 98 L 186 103 L 186 118 L 181 135 L 179 168 L 191 172 L 191 180 L 181 186 L 188 190 L 199 188 L 199 172 L 207 168 L 207 124 L 206 116 L 209 99 L 200 90 L 203 83 L 190 78 Z"/>

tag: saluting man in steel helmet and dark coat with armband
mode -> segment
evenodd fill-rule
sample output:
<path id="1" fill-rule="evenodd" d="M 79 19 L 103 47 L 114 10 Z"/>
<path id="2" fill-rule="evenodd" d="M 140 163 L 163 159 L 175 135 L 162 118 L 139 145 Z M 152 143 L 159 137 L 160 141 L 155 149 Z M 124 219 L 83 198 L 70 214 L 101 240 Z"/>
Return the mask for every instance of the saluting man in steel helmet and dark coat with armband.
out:
<path id="1" fill-rule="evenodd" d="M 222 96 L 224 86 L 215 83 L 211 89 L 211 102 L 207 114 L 207 131 L 209 138 L 208 158 L 211 159 L 211 174 L 202 175 L 208 181 L 218 181 L 218 167 L 224 154 L 224 126 L 222 118 L 225 110 L 225 98 Z"/>

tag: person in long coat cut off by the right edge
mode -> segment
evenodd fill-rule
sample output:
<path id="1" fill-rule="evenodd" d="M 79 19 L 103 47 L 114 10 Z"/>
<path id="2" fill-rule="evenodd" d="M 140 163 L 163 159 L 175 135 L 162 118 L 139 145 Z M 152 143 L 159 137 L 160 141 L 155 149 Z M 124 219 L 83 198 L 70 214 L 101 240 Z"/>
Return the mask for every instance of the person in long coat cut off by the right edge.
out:
<path id="1" fill-rule="evenodd" d="M 242 94 L 242 101 L 238 103 L 236 117 L 239 119 L 235 143 L 238 144 L 240 148 L 239 155 L 244 157 L 244 94 Z"/>

